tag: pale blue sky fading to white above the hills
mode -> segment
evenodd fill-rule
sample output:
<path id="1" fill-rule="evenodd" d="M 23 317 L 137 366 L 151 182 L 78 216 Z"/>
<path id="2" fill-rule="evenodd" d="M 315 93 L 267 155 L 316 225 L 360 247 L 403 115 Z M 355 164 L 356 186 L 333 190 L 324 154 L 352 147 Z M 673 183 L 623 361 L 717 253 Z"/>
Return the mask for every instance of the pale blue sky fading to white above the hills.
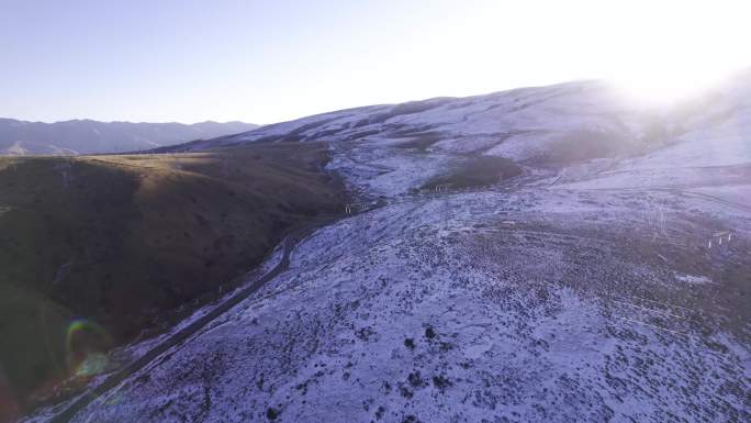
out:
<path id="1" fill-rule="evenodd" d="M 751 63 L 746 9 L 732 1 L 0 0 L 0 116 L 271 123 L 578 78 L 679 90 Z"/>

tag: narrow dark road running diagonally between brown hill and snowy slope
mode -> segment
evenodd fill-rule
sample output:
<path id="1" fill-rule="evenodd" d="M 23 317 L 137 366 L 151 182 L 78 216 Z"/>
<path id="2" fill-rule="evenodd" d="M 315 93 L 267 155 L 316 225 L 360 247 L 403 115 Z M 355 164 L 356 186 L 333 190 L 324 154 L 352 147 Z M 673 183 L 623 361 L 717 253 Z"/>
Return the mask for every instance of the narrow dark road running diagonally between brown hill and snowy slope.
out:
<path id="1" fill-rule="evenodd" d="M 326 219 L 326 222 L 330 221 L 329 219 Z M 248 298 L 250 294 L 256 292 L 258 289 L 260 289 L 264 285 L 266 285 L 268 281 L 271 279 L 276 278 L 279 274 L 282 271 L 287 270 L 290 265 L 290 255 L 294 251 L 294 247 L 298 245 L 298 242 L 304 238 L 304 235 L 309 233 L 310 231 L 321 227 L 324 225 L 324 222 L 316 221 L 313 223 L 310 223 L 307 225 L 303 225 L 301 227 L 298 227 L 296 230 L 293 230 L 289 235 L 284 237 L 282 241 L 283 245 L 283 254 L 281 260 L 268 272 L 266 272 L 264 276 L 260 278 L 256 279 L 253 283 L 249 286 L 243 288 L 239 290 L 237 293 L 234 296 L 229 297 L 227 300 L 225 300 L 223 303 L 218 304 L 214 309 L 212 309 L 210 312 L 206 314 L 202 315 L 201 318 L 197 319 L 194 322 L 190 323 L 186 327 L 177 331 L 176 333 L 171 334 L 169 337 L 167 337 L 165 341 L 160 342 L 158 345 L 156 345 L 154 348 L 149 349 L 146 352 L 146 354 L 142 355 L 127 366 L 123 367 L 122 369 L 115 371 L 114 374 L 110 375 L 102 383 L 98 385 L 96 388 L 89 390 L 78 399 L 76 399 L 72 403 L 68 404 L 68 407 L 53 416 L 48 422 L 49 423 L 66 423 L 69 422 L 79 411 L 83 410 L 87 405 L 89 405 L 91 402 L 93 402 L 97 398 L 109 391 L 110 389 L 116 387 L 120 385 L 122 381 L 124 381 L 126 378 L 135 374 L 136 371 L 143 369 L 146 367 L 149 363 L 152 363 L 154 359 L 159 357 L 161 354 L 166 353 L 173 346 L 187 341 L 190 336 L 195 334 L 198 331 L 203 329 L 206 324 L 211 323 L 214 321 L 216 318 L 220 315 L 224 314 L 227 312 L 229 309 L 237 305 L 240 301 L 245 300 Z"/>

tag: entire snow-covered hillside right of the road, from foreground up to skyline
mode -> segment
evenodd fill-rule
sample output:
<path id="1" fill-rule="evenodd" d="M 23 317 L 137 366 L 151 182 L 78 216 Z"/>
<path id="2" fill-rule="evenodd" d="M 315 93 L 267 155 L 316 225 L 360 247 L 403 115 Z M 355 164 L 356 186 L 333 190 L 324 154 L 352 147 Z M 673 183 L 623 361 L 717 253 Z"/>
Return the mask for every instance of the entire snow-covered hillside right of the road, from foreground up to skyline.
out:
<path id="1" fill-rule="evenodd" d="M 74 421 L 751 421 L 748 87 L 654 109 L 574 82 L 190 144 L 328 142 L 374 205 Z M 437 182 L 482 155 L 524 174 Z"/>

